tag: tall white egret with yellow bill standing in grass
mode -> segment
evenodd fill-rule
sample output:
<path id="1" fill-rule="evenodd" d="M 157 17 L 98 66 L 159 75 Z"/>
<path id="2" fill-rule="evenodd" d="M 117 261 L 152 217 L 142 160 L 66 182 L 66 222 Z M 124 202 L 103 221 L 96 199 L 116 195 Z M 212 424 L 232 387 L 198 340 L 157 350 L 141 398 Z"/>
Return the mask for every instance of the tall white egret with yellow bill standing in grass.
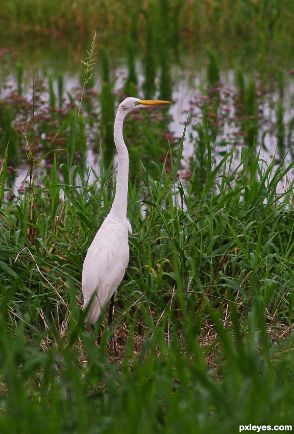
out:
<path id="1" fill-rule="evenodd" d="M 85 321 L 90 324 L 98 321 L 110 299 L 108 325 L 112 323 L 115 292 L 129 261 L 128 235 L 132 231 L 126 216 L 129 156 L 123 140 L 123 121 L 132 111 L 170 102 L 127 97 L 118 106 L 113 134 L 118 158 L 115 196 L 109 214 L 88 248 L 82 269 L 83 309 Z"/>

